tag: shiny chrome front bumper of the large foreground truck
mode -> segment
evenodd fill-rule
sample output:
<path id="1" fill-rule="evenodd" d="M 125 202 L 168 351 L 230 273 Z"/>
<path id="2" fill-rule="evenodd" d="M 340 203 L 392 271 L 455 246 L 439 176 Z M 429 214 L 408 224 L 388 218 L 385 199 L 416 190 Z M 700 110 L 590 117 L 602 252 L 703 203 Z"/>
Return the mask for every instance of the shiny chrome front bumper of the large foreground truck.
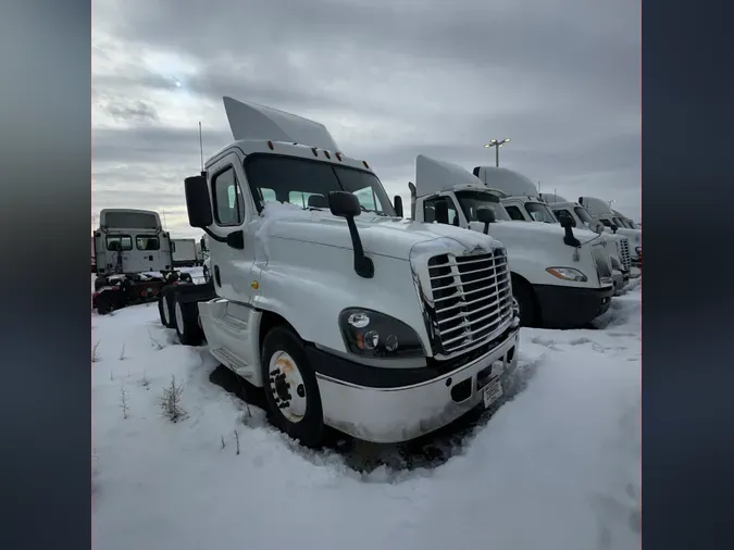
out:
<path id="1" fill-rule="evenodd" d="M 509 328 L 486 352 L 448 372 L 446 367 L 369 367 L 308 348 L 316 371 L 324 423 L 372 442 L 408 441 L 464 415 L 483 400 L 482 389 L 518 364 L 518 328 Z"/>

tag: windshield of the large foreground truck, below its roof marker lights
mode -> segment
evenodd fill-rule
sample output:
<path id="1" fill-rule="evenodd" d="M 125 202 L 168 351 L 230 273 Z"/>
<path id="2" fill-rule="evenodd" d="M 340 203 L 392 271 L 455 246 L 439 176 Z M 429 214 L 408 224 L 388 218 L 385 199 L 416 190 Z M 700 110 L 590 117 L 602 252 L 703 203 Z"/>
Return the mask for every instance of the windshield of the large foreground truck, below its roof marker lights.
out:
<path id="1" fill-rule="evenodd" d="M 295 157 L 251 154 L 245 161 L 245 173 L 261 209 L 277 201 L 328 210 L 329 191 L 348 191 L 359 199 L 362 212 L 396 216 L 382 183 L 371 172 Z"/>

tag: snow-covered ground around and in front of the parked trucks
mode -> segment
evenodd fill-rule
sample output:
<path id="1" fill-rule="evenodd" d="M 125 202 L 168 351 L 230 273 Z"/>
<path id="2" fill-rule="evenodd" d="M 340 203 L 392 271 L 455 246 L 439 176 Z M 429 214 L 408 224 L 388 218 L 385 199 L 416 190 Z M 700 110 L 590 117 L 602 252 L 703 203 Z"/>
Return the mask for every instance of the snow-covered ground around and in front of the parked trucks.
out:
<path id="1" fill-rule="evenodd" d="M 523 328 L 513 399 L 410 450 L 300 448 L 154 303 L 92 313 L 94 547 L 636 550 L 640 288 L 597 329 Z"/>

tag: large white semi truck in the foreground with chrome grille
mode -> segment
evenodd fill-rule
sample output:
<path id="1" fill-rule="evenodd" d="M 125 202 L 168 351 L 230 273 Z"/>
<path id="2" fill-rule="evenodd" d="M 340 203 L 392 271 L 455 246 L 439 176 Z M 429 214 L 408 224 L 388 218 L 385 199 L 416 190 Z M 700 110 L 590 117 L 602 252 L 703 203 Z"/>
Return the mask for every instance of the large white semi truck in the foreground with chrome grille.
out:
<path id="1" fill-rule="evenodd" d="M 519 330 L 501 243 L 397 216 L 319 123 L 224 107 L 235 141 L 185 180 L 213 291 L 164 289 L 179 336 L 263 387 L 271 422 L 308 446 L 324 426 L 397 442 L 496 407 Z"/>

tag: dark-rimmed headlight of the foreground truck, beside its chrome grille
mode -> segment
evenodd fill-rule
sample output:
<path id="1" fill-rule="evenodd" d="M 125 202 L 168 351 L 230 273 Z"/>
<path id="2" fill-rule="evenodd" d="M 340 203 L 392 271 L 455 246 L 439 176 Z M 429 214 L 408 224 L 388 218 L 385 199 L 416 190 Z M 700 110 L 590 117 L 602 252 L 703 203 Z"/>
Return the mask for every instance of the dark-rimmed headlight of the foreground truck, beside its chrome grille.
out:
<path id="1" fill-rule="evenodd" d="M 339 314 L 339 328 L 347 349 L 375 359 L 424 357 L 418 333 L 395 317 L 362 308 L 348 308 Z"/>

